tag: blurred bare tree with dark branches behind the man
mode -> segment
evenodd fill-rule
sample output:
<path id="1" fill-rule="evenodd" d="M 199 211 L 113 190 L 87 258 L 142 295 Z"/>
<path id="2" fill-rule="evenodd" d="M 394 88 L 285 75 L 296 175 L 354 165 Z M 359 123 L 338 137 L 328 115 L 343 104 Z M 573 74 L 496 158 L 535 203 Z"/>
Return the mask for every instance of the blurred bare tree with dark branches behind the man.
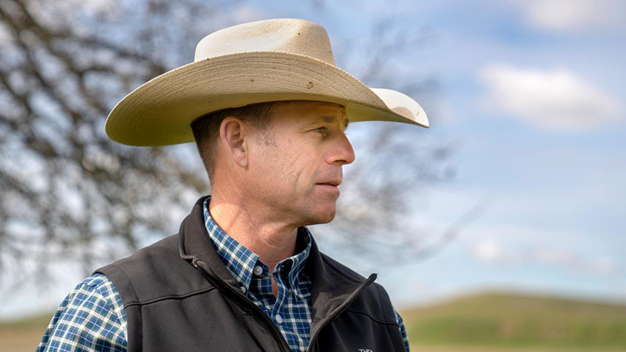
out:
<path id="1" fill-rule="evenodd" d="M 237 18 L 225 14 L 237 6 L 0 3 L 0 265 L 26 268 L 3 271 L 3 289 L 48 278 L 50 263 L 78 261 L 90 271 L 171 234 L 191 202 L 209 191 L 194 145 L 126 147 L 106 137 L 104 122 L 122 96 L 191 61 L 198 39 L 234 24 Z M 382 43 L 374 50 L 351 50 L 373 53 L 366 65 L 354 60 L 363 80 L 413 94 L 432 88 L 432 80 L 411 82 L 380 69 L 411 41 L 426 40 L 422 32 L 384 37 L 390 28 L 374 28 Z M 325 228 L 350 251 L 413 246 L 415 232 L 398 226 L 411 208 L 408 196 L 451 175 L 449 145 L 416 142 L 419 132 L 407 131 L 384 125 L 355 141 L 364 153 L 346 175 L 339 217 Z M 395 239 L 379 241 L 382 230 Z"/>

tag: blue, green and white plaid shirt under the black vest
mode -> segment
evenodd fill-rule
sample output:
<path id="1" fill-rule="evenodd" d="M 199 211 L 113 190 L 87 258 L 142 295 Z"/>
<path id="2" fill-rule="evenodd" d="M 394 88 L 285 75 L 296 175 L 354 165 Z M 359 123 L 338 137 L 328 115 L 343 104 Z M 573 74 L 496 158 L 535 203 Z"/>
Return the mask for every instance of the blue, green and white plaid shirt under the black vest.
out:
<path id="1" fill-rule="evenodd" d="M 208 199 L 207 199 L 208 201 Z M 269 268 L 213 221 L 204 204 L 205 225 L 213 246 L 243 292 L 267 314 L 292 351 L 306 351 L 311 322 L 310 281 L 302 270 L 309 255 L 310 233 L 302 227 L 304 249 L 280 261 L 272 272 L 279 288 L 272 293 Z M 394 311 L 395 312 L 395 311 Z M 406 350 L 409 342 L 396 313 Z M 108 278 L 93 274 L 78 284 L 54 314 L 36 351 L 126 351 L 126 313 L 120 294 Z"/>

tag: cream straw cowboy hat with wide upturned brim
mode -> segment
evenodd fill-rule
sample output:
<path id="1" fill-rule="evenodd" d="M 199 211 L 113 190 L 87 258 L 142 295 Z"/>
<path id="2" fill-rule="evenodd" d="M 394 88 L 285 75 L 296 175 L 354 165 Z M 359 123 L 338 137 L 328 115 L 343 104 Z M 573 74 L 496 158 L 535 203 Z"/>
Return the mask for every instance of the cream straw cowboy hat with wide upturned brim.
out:
<path id="1" fill-rule="evenodd" d="M 106 133 L 128 145 L 193 142 L 190 124 L 213 111 L 281 100 L 343 105 L 350 122 L 383 120 L 428 127 L 421 106 L 399 91 L 369 88 L 335 66 L 326 29 L 302 19 L 268 19 L 203 38 L 193 63 L 125 96 Z"/>

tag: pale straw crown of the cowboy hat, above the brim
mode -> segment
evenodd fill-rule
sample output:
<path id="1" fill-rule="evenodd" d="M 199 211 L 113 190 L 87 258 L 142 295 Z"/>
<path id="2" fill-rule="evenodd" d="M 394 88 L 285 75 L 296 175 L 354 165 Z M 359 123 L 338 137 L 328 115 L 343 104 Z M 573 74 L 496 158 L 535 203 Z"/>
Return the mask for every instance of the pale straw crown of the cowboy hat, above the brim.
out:
<path id="1" fill-rule="evenodd" d="M 193 61 L 249 51 L 300 54 L 335 65 L 326 29 L 293 18 L 244 23 L 208 34 L 196 46 Z"/>

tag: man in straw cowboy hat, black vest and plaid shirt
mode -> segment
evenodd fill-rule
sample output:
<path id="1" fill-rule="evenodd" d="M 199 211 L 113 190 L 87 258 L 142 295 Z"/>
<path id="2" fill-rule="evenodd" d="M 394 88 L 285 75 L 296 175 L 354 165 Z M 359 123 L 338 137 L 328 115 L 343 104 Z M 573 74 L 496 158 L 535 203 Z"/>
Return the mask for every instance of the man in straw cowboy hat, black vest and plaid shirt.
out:
<path id="1" fill-rule="evenodd" d="M 376 274 L 325 256 L 306 225 L 335 217 L 349 122 L 428 127 L 418 103 L 334 66 L 299 19 L 203 38 L 195 61 L 140 86 L 106 132 L 130 145 L 195 140 L 212 185 L 174 236 L 70 292 L 41 351 L 404 351 Z"/>

